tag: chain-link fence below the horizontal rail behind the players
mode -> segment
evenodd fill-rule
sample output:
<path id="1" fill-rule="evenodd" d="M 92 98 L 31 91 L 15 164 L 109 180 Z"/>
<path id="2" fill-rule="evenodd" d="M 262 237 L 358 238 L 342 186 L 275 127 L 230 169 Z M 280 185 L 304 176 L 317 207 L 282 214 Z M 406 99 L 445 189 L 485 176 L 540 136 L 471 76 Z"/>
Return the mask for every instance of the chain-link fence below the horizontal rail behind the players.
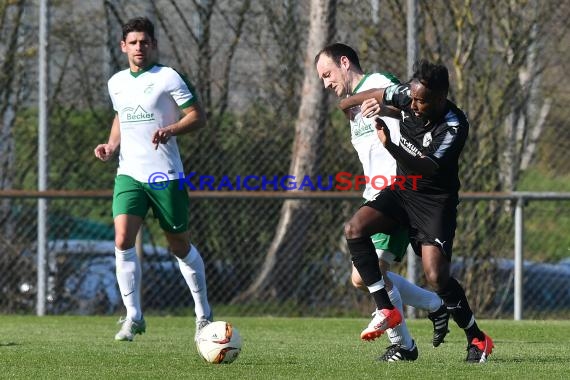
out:
<path id="1" fill-rule="evenodd" d="M 253 285 L 268 268 L 267 252 L 288 196 L 303 202 L 313 220 L 306 226 L 302 250 L 293 252 L 289 261 L 278 260 L 269 269 L 271 280 L 256 288 Z M 46 312 L 121 313 L 112 225 L 89 219 L 92 208 L 110 206 L 110 199 L 60 197 L 48 201 Z M 35 313 L 37 200 L 3 201 L 15 210 L 10 218 L 17 220 L 18 228 L 11 235 L 3 234 L 0 243 L 0 312 Z M 342 231 L 343 222 L 359 203 L 359 194 L 354 193 L 192 194 L 192 240 L 204 256 L 214 308 L 236 315 L 366 315 L 372 304 L 368 295 L 350 286 L 350 255 Z M 500 210 L 497 217 L 481 221 L 480 230 L 473 230 L 468 214 L 492 204 Z M 68 209 L 84 210 L 84 215 L 69 217 L 63 212 Z M 568 193 L 462 196 L 453 272 L 479 317 L 567 316 L 568 215 Z M 306 223 L 298 221 L 300 226 Z M 156 314 L 192 313 L 190 293 L 161 234 L 154 232 L 155 224 L 147 218 L 140 245 L 144 309 Z M 406 274 L 405 263 L 394 269 Z"/>

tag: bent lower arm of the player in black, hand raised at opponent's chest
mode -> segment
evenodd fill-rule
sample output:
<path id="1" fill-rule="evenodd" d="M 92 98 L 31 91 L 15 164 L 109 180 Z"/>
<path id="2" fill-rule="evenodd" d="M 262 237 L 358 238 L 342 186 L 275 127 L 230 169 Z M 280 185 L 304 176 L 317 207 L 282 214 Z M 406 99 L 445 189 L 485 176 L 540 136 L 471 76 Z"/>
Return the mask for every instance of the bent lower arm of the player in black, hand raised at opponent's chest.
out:
<path id="1" fill-rule="evenodd" d="M 382 142 L 382 145 L 384 145 L 388 153 L 394 157 L 398 164 L 424 177 L 431 177 L 435 174 L 439 167 L 438 164 L 431 158 L 421 154 L 413 156 L 406 152 L 401 146 L 394 144 L 392 139 L 390 139 L 390 130 L 386 126 L 386 123 L 380 118 L 376 118 L 376 129 L 380 142 Z"/>

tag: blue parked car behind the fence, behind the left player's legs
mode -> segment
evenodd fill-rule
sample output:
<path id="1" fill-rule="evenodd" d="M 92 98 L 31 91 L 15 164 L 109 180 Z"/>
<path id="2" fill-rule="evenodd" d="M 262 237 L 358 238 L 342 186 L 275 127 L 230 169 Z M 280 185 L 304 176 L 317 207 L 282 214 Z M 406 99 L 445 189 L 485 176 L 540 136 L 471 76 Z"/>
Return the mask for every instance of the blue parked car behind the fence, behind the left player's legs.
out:
<path id="1" fill-rule="evenodd" d="M 35 249 L 29 253 L 35 257 Z M 122 305 L 115 278 L 115 244 L 108 240 L 54 240 L 47 247 L 47 303 L 53 314 L 113 314 Z M 145 308 L 188 305 L 178 263 L 164 247 L 143 245 Z M 36 279 L 20 285 L 35 298 Z M 170 295 L 170 298 L 166 297 Z"/>

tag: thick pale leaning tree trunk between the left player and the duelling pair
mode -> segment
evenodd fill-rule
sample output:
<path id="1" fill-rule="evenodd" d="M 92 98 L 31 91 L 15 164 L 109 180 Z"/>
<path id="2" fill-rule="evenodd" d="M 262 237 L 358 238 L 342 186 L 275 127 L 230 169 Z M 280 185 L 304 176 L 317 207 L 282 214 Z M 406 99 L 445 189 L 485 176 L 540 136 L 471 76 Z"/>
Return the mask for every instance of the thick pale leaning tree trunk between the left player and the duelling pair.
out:
<path id="1" fill-rule="evenodd" d="M 325 92 L 315 72 L 314 56 L 331 39 L 336 10 L 335 0 L 311 0 L 309 38 L 304 62 L 304 82 L 290 175 L 299 184 L 305 176 L 314 178 L 327 118 Z M 293 190 L 298 191 L 298 190 Z M 299 283 L 301 255 L 313 210 L 309 201 L 287 200 L 283 203 L 275 236 L 255 281 L 236 302 L 249 299 L 283 300 L 294 295 Z"/>

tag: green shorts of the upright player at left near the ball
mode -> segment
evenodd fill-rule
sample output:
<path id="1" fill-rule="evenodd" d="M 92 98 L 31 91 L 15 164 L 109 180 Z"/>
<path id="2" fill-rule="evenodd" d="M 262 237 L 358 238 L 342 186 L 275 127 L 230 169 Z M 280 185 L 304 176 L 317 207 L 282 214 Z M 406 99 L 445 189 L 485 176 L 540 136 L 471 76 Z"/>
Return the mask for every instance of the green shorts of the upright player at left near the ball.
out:
<path id="1" fill-rule="evenodd" d="M 115 177 L 113 190 L 113 218 L 117 215 L 136 215 L 144 218 L 149 208 L 160 227 L 171 233 L 188 230 L 190 200 L 180 180 L 171 180 L 165 189 L 152 189 L 128 175 Z"/>

